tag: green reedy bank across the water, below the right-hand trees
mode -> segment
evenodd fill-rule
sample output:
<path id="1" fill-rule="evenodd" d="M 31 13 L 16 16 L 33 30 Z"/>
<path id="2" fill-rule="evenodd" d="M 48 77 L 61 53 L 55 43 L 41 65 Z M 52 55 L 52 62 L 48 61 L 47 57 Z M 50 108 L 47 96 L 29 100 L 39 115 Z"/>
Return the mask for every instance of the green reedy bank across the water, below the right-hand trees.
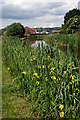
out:
<path id="1" fill-rule="evenodd" d="M 63 44 L 63 46 L 67 44 L 69 47 L 80 47 L 80 36 L 74 34 L 44 35 L 43 39 L 52 44 Z"/>

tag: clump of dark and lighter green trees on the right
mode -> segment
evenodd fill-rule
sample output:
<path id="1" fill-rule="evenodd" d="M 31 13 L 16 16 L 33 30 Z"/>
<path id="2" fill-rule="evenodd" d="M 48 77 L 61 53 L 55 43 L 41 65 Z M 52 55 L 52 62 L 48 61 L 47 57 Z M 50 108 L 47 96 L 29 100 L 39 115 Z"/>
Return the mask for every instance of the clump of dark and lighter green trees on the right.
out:
<path id="1" fill-rule="evenodd" d="M 80 33 L 80 10 L 73 9 L 65 14 L 64 25 L 62 25 L 60 33 Z"/>

